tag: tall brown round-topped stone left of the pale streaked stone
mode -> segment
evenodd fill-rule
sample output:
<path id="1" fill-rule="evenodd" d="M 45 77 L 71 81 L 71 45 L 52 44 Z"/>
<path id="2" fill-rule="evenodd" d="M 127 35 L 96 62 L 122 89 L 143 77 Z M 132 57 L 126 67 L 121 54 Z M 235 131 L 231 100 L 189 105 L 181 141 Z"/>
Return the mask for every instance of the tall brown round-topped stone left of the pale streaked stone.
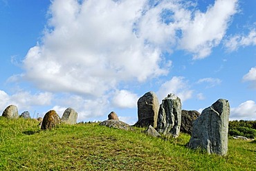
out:
<path id="1" fill-rule="evenodd" d="M 147 92 L 138 99 L 138 127 L 152 125 L 156 128 L 159 110 L 159 102 L 154 92 Z"/>

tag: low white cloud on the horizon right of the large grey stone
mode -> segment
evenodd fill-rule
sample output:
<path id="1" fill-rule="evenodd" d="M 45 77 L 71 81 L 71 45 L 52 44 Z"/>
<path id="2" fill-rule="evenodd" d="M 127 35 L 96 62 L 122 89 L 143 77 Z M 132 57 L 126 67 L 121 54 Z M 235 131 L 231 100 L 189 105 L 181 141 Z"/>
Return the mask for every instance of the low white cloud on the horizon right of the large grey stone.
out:
<path id="1" fill-rule="evenodd" d="M 246 101 L 230 109 L 230 120 L 256 120 L 255 101 Z"/>

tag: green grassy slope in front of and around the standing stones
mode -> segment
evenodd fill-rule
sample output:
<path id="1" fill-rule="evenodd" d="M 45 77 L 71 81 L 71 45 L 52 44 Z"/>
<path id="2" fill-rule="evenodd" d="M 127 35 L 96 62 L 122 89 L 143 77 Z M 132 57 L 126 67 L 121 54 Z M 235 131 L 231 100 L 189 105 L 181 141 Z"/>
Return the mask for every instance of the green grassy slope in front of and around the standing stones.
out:
<path id="1" fill-rule="evenodd" d="M 148 137 L 86 123 L 40 131 L 33 119 L 0 117 L 0 170 L 256 170 L 255 141 L 230 139 L 221 157 L 186 148 L 190 136 Z"/>

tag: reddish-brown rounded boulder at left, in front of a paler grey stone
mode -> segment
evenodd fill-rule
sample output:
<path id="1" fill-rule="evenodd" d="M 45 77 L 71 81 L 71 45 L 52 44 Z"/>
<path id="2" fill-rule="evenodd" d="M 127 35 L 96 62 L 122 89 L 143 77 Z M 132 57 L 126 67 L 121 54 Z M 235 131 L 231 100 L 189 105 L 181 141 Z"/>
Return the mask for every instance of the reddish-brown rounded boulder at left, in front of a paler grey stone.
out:
<path id="1" fill-rule="evenodd" d="M 44 119 L 42 121 L 42 130 L 51 130 L 55 128 L 58 124 L 60 124 L 60 117 L 55 112 L 55 110 L 50 110 L 44 115 Z"/>

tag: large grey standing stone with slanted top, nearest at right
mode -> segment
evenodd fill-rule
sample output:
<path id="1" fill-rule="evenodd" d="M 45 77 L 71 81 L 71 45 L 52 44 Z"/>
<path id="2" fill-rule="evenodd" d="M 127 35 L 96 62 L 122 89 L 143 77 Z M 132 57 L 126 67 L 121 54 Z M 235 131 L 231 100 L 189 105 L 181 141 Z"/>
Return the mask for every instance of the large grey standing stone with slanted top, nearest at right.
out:
<path id="1" fill-rule="evenodd" d="M 202 148 L 208 154 L 226 155 L 228 152 L 228 100 L 219 99 L 205 108 L 192 128 L 189 148 Z"/>

